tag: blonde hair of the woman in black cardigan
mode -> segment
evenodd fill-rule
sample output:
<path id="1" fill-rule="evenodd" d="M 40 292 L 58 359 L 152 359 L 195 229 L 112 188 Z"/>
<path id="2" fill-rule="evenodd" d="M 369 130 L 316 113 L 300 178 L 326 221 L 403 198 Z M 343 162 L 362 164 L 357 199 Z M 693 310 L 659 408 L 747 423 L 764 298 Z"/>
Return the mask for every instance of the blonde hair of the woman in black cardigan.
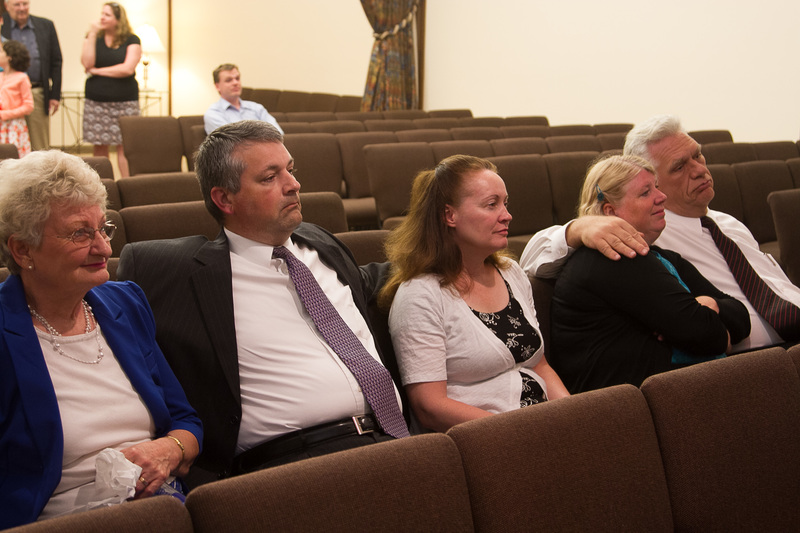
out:
<path id="1" fill-rule="evenodd" d="M 618 204 L 625 186 L 642 170 L 656 175 L 653 165 L 636 155 L 612 155 L 596 162 L 583 182 L 578 216 L 602 215 L 607 202 Z"/>

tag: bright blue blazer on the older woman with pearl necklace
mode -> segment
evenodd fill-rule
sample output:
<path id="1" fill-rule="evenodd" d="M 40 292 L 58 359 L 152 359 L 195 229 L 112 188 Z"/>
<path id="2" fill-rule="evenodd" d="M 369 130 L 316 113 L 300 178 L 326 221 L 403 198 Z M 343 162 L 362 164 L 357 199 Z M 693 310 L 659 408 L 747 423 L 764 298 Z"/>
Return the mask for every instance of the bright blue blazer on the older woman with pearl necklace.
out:
<path id="1" fill-rule="evenodd" d="M 153 415 L 156 435 L 190 431 L 200 419 L 155 341 L 155 321 L 134 283 L 107 282 L 86 294 L 114 356 Z M 61 480 L 64 437 L 53 383 L 22 282 L 0 284 L 0 529 L 36 520 Z M 102 404 L 98 398 L 98 404 Z M 113 406 L 111 407 L 113 408 Z"/>

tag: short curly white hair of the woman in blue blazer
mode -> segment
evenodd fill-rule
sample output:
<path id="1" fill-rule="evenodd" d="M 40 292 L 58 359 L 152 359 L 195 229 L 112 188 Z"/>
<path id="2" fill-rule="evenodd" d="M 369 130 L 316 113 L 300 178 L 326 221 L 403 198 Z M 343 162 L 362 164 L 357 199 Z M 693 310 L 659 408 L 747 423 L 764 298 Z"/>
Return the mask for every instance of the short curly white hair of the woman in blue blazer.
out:
<path id="1" fill-rule="evenodd" d="M 6 159 L 0 163 L 0 261 L 19 274 L 8 239 L 38 248 L 53 204 L 96 205 L 105 212 L 107 196 L 100 176 L 80 157 L 48 150 Z"/>

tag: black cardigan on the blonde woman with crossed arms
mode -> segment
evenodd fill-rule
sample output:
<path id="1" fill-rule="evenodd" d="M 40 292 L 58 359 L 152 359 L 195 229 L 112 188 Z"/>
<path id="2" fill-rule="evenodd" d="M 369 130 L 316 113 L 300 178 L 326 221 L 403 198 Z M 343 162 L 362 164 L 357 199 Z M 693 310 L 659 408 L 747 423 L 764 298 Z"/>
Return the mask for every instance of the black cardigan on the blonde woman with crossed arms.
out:
<path id="1" fill-rule="evenodd" d="M 741 302 L 679 254 L 651 250 L 675 266 L 691 293 L 653 253 L 612 261 L 581 248 L 567 261 L 553 294 L 548 360 L 570 392 L 638 386 L 675 367 L 673 347 L 707 359 L 725 351 L 728 332 L 732 343 L 750 334 Z M 714 298 L 719 314 L 700 305 L 700 295 Z"/>

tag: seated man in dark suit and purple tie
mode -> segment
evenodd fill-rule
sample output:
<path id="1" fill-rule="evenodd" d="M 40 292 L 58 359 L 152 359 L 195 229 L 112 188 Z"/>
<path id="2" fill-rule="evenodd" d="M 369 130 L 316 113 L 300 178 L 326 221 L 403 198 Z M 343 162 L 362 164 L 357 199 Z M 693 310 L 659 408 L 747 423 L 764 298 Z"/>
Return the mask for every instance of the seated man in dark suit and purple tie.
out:
<path id="1" fill-rule="evenodd" d="M 273 256 L 284 247 L 305 264 L 369 362 L 381 361 L 367 305 L 387 266 L 359 268 L 330 233 L 302 223 L 300 184 L 282 141 L 254 120 L 215 130 L 196 168 L 206 207 L 223 226 L 217 239 L 132 243 L 120 259 L 118 278 L 144 289 L 158 343 L 204 424 L 190 485 L 408 434 L 402 416 L 400 434 L 380 419 L 367 387 L 306 311 L 291 262 Z"/>

